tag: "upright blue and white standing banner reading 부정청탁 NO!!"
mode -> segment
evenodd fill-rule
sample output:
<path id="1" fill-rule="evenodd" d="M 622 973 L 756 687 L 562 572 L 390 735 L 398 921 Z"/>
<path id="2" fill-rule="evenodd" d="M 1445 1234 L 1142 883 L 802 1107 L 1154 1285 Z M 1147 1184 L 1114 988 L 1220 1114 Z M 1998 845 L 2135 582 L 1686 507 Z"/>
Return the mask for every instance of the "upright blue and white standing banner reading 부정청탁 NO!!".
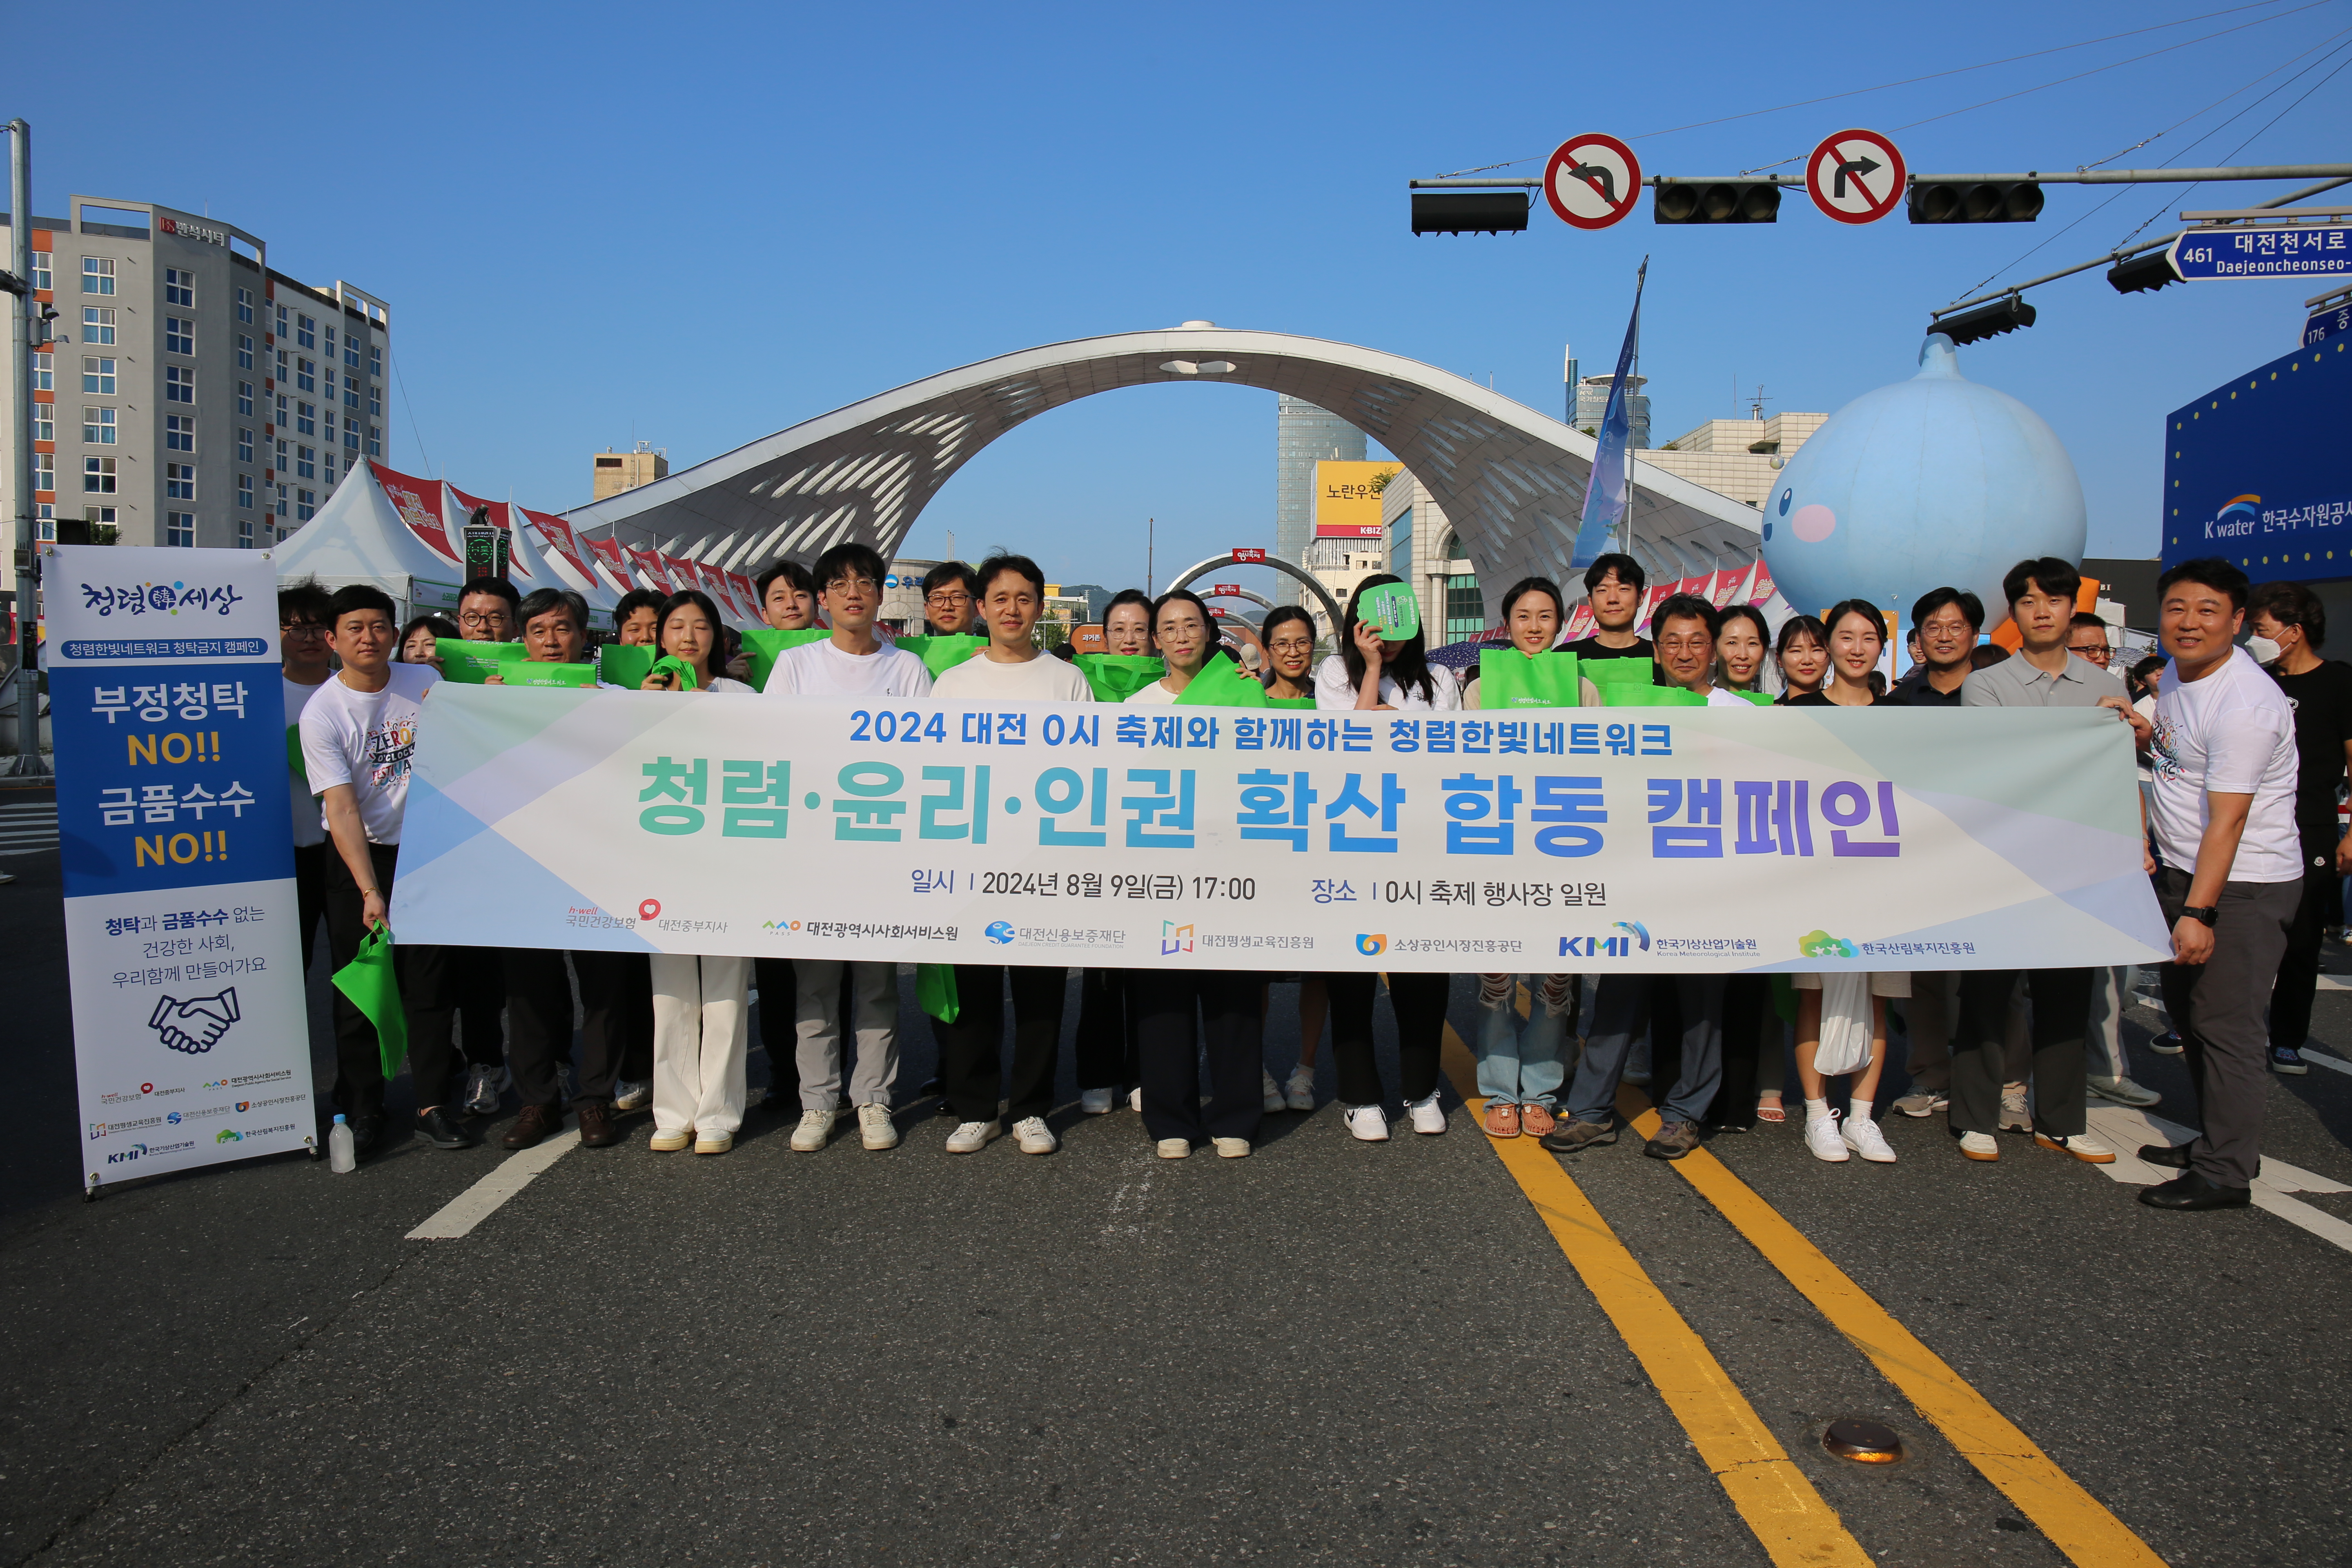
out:
<path id="1" fill-rule="evenodd" d="M 40 552 L 85 1182 L 313 1147 L 270 552 Z"/>

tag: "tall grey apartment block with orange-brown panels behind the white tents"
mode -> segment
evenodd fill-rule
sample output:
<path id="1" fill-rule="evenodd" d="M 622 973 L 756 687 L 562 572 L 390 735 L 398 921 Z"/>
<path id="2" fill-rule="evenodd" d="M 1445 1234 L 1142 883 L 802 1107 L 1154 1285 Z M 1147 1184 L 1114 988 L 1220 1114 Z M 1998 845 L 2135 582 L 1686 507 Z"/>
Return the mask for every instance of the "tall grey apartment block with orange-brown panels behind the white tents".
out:
<path id="1" fill-rule="evenodd" d="M 261 548 L 383 456 L 390 310 L 374 294 L 296 282 L 242 228 L 151 202 L 75 195 L 31 223 L 31 284 L 56 308 L 33 355 L 42 538 L 64 522 L 92 543 Z M 0 444 L 12 400 L 0 376 Z M 12 487 L 14 463 L 0 473 Z"/>

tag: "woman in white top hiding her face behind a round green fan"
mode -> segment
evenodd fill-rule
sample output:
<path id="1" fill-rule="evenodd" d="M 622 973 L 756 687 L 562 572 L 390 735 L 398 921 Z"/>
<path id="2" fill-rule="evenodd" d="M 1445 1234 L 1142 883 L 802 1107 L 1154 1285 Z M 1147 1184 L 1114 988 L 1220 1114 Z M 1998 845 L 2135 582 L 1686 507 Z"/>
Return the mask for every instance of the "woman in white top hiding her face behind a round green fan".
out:
<path id="1" fill-rule="evenodd" d="M 1463 705 L 1454 672 L 1430 665 L 1421 632 L 1388 642 L 1357 614 L 1367 590 L 1402 581 L 1381 571 L 1355 585 L 1348 597 L 1348 623 L 1341 628 L 1341 651 L 1324 658 L 1315 672 L 1317 708 L 1454 712 Z M 1338 1103 L 1348 1133 L 1362 1143 L 1385 1143 L 1388 1095 L 1381 1086 L 1381 1065 L 1371 1058 L 1371 971 L 1329 973 L 1324 990 L 1331 994 L 1331 1065 L 1338 1070 Z M 1451 990 L 1451 976 L 1399 971 L 1388 976 L 1388 1006 L 1397 1020 L 1397 1079 L 1416 1133 L 1446 1131 L 1446 1112 L 1437 1105 L 1437 1056 Z"/>

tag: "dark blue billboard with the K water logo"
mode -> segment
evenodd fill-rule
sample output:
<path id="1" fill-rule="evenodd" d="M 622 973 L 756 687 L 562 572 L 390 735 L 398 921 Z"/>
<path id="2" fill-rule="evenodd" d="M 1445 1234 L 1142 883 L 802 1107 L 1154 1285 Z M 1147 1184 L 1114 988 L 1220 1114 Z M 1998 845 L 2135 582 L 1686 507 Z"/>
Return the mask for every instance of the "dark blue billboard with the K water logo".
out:
<path id="1" fill-rule="evenodd" d="M 2352 339 L 2272 360 L 2164 416 L 2164 564 L 2352 578 Z"/>

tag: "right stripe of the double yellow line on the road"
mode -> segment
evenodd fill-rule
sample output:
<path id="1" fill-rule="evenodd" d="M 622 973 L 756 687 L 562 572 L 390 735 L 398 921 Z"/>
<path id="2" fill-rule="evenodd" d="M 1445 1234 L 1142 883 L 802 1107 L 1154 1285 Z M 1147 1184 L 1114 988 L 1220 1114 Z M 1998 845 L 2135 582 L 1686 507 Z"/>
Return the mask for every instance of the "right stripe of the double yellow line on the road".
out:
<path id="1" fill-rule="evenodd" d="M 1468 1081 L 1475 1084 L 1477 1077 Z M 1646 1100 L 1635 1091 L 1621 1091 L 1621 1110 L 1632 1114 L 1642 1105 Z M 1649 1138 L 1658 1131 L 1658 1112 L 1642 1110 L 1632 1124 Z M 2110 1514 L 2107 1505 L 2058 1469 L 2016 1422 L 1994 1410 L 1990 1399 L 1922 1345 L 1715 1154 L 1693 1150 L 1677 1159 L 1675 1168 L 2060 1552 L 2084 1568 L 2164 1568 L 2164 1559 Z"/>

